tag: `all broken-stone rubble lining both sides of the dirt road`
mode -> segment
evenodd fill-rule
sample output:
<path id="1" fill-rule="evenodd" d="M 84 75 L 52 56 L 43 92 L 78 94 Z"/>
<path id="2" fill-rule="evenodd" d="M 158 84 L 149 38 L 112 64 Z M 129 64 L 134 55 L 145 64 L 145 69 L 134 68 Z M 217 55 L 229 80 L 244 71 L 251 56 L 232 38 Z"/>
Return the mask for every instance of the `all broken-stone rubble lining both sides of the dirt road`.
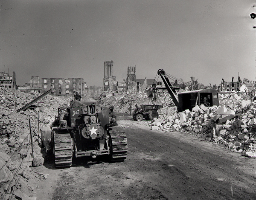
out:
<path id="1" fill-rule="evenodd" d="M 39 127 L 50 126 L 58 107 L 66 104 L 67 100 L 47 95 L 37 101 L 33 109 L 16 112 L 39 95 L 0 89 L 0 199 L 36 199 L 36 183 L 47 179 L 47 174 L 29 167 L 44 163 L 38 122 Z M 163 105 L 158 110 L 160 117 L 142 123 L 148 124 L 152 130 L 180 130 L 195 134 L 243 155 L 256 156 L 256 101 L 246 93 L 220 94 L 219 101 L 219 107 L 200 105 L 192 111 L 177 113 L 169 93 L 160 92 L 157 101 L 154 101 L 154 104 Z M 113 107 L 116 113 L 127 114 L 130 113 L 130 104 L 133 112 L 135 104 L 149 104 L 149 98 L 143 92 L 107 93 L 99 104 Z M 29 121 L 33 135 L 33 158 Z"/>

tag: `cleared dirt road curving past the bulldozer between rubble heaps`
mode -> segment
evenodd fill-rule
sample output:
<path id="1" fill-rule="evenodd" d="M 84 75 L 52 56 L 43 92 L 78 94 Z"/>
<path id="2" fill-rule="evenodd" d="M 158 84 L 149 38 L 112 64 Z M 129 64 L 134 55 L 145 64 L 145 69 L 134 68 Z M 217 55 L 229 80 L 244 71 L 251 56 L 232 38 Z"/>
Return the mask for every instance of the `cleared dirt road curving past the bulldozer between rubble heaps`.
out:
<path id="1" fill-rule="evenodd" d="M 186 133 L 149 130 L 130 116 L 118 124 L 128 138 L 124 162 L 78 160 L 67 169 L 46 163 L 49 178 L 41 183 L 38 199 L 256 199 L 256 159 Z"/>

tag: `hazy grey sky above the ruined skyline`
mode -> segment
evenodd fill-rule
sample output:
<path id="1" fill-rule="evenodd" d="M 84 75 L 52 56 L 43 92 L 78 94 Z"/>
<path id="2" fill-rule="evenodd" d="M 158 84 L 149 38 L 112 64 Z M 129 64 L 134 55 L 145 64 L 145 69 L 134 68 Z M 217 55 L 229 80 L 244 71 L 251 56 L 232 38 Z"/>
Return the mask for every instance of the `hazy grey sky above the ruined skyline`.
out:
<path id="1" fill-rule="evenodd" d="M 17 85 L 83 78 L 103 85 L 104 61 L 121 82 L 158 69 L 188 82 L 256 77 L 255 0 L 0 0 L 0 71 Z"/>

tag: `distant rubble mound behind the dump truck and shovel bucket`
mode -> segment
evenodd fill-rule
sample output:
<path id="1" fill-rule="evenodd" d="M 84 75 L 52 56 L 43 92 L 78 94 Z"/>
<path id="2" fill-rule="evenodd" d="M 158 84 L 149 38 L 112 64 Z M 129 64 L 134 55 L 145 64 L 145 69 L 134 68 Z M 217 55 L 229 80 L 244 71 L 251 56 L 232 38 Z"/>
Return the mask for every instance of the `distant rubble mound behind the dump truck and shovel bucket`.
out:
<path id="1" fill-rule="evenodd" d="M 177 108 L 173 107 L 173 101 L 169 93 L 160 92 L 157 93 L 158 97 L 156 101 L 153 101 L 152 104 L 155 105 L 163 105 L 163 108 L 158 110 L 158 113 L 169 114 L 172 115 L 173 113 L 177 112 Z M 145 92 L 134 92 L 129 91 L 127 93 L 108 93 L 105 98 L 99 100 L 99 104 L 105 107 L 113 107 L 113 112 L 115 113 L 126 113 L 128 114 L 130 104 L 131 104 L 131 111 L 133 112 L 135 104 L 140 106 L 141 104 L 149 104 L 148 95 Z M 169 106 L 172 104 L 171 106 Z"/>

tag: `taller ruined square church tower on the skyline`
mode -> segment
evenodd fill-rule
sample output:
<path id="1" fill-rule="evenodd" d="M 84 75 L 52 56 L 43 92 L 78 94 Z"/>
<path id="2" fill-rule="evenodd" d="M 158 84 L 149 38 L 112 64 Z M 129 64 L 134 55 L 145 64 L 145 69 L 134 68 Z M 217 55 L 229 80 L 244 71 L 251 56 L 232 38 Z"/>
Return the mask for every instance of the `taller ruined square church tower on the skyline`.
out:
<path id="1" fill-rule="evenodd" d="M 113 76 L 113 60 L 104 62 L 103 91 L 116 91 L 116 76 Z"/>

